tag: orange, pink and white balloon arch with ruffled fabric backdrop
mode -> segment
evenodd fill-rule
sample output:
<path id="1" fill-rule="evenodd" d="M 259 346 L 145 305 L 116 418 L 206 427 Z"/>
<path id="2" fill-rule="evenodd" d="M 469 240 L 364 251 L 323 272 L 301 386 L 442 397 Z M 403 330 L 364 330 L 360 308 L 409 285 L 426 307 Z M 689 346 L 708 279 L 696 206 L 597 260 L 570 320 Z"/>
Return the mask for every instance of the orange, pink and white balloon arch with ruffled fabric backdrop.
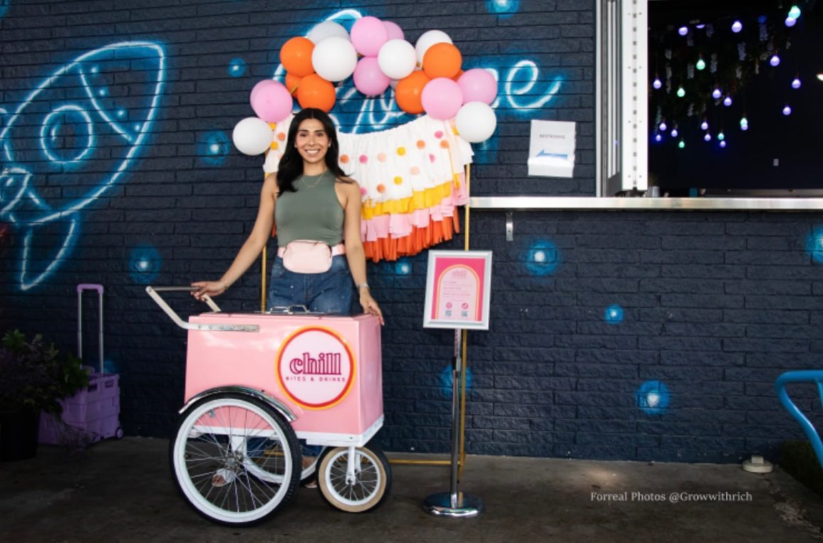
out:
<path id="1" fill-rule="evenodd" d="M 340 165 L 360 183 L 361 236 L 371 260 L 397 260 L 453 237 L 456 206 L 468 201 L 467 164 L 472 143 L 491 137 L 497 127 L 491 103 L 497 81 L 490 71 L 463 71 L 463 56 L 449 35 L 425 32 L 412 45 L 402 29 L 373 16 L 357 19 L 351 33 L 323 21 L 280 50 L 285 81 L 254 85 L 249 101 L 256 117 L 235 126 L 237 149 L 266 153 L 263 169 L 277 172 L 292 109 L 330 112 L 335 83 L 351 77 L 360 93 L 380 96 L 393 89 L 412 122 L 386 131 L 338 134 Z"/>

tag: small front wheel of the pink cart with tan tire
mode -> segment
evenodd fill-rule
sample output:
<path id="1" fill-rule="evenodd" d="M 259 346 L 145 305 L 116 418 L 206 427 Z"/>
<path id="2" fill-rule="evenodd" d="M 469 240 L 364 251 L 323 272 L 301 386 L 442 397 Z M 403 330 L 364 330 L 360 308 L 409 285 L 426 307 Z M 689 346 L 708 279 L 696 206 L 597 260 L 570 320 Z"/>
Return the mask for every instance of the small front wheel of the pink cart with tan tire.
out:
<path id="1" fill-rule="evenodd" d="M 383 451 L 371 444 L 355 448 L 354 480 L 346 480 L 348 447 L 329 449 L 318 465 L 320 494 L 332 507 L 364 513 L 383 503 L 392 487 L 392 469 Z"/>

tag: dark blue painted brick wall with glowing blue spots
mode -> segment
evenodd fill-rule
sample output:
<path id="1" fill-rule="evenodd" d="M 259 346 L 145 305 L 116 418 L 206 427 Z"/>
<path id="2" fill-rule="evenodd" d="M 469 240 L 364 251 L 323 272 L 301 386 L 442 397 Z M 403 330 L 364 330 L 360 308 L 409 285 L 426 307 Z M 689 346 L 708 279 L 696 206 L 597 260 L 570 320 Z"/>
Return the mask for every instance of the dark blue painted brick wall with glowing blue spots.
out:
<path id="1" fill-rule="evenodd" d="M 231 130 L 252 114 L 249 90 L 274 74 L 281 44 L 344 9 L 394 21 L 412 42 L 444 30 L 464 68 L 498 73 L 498 129 L 476 145 L 475 196 L 593 195 L 593 2 L 510 5 L 497 12 L 497 2 L 444 0 L 6 2 L 0 129 L 81 54 L 142 41 L 162 48 L 165 65 L 156 117 L 123 177 L 60 220 L 35 226 L 0 212 L 0 328 L 44 332 L 72 347 L 76 284 L 104 284 L 106 361 L 121 375 L 123 426 L 130 435 L 166 435 L 183 397 L 185 336 L 146 297 L 145 284 L 216 277 L 229 265 L 249 234 L 262 178 L 261 161 L 232 148 Z M 245 65 L 236 77 L 235 59 Z M 147 74 L 138 60 L 107 74 L 112 104 L 150 98 L 140 86 Z M 38 127 L 78 85 L 21 109 L 37 112 L 26 117 L 33 135 L 7 131 L 2 142 L 15 152 L 0 157 L 3 170 L 35 172 L 30 188 L 52 209 L 105 184 L 106 161 L 119 152 L 100 144 L 84 168 L 44 173 Z M 344 130 L 374 129 L 357 124 L 363 104 L 340 105 Z M 574 177 L 527 176 L 532 119 L 577 122 Z M 20 178 L 2 177 L 0 209 L 14 182 Z M 35 200 L 29 205 L 42 211 Z M 807 237 L 823 215 L 523 212 L 514 221 L 507 242 L 504 214 L 472 213 L 471 246 L 494 251 L 494 278 L 491 329 L 468 334 L 469 452 L 723 462 L 772 454 L 800 435 L 772 384 L 784 370 L 819 364 L 823 269 Z M 463 236 L 439 248 L 463 248 Z M 410 273 L 396 263 L 369 266 L 387 316 L 381 439 L 389 450 L 445 452 L 453 333 L 421 326 L 426 255 L 402 263 Z M 24 272 L 42 277 L 28 288 Z M 253 269 L 221 305 L 257 310 L 259 288 Z M 95 364 L 91 298 L 86 358 Z M 201 311 L 188 297 L 174 306 Z M 621 320 L 609 322 L 611 306 Z M 813 390 L 796 394 L 804 409 L 819 411 Z"/>

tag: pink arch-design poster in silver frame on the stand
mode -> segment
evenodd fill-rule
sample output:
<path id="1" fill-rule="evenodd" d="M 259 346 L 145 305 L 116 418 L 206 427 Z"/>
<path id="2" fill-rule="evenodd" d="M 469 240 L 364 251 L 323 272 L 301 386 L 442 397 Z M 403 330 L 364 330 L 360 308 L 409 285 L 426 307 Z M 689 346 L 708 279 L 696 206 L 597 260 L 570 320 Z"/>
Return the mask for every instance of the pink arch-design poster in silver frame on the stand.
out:
<path id="1" fill-rule="evenodd" d="M 491 251 L 429 251 L 424 328 L 489 329 Z"/>

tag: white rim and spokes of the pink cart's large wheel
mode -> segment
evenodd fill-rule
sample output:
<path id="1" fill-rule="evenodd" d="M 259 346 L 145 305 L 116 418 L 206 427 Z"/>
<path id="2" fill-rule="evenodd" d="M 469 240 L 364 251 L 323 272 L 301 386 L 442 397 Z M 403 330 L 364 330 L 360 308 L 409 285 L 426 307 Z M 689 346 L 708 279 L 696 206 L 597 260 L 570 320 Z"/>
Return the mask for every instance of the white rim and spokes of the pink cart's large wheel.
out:
<path id="1" fill-rule="evenodd" d="M 232 408 L 242 411 L 231 412 Z M 221 417 L 223 412 L 232 415 Z M 249 416 L 258 417 L 258 424 L 253 428 L 235 426 L 234 413 L 240 412 L 247 420 Z M 206 428 L 196 424 L 204 417 L 232 420 Z M 268 462 L 263 458 L 268 451 L 257 456 L 259 445 L 249 450 L 254 439 L 261 439 L 263 443 L 279 442 L 281 447 L 286 444 L 288 449 L 280 424 L 264 409 L 243 399 L 216 398 L 202 403 L 189 412 L 179 426 L 174 439 L 174 474 L 189 502 L 209 518 L 221 522 L 253 522 L 277 508 L 288 492 L 294 470 L 291 451 L 281 452 L 273 462 Z M 255 461 L 264 466 L 258 466 Z M 216 470 L 226 466 L 236 472 L 235 479 L 222 487 L 213 485 Z M 268 472 L 266 467 L 276 467 L 277 472 Z M 201 473 L 193 478 L 196 469 Z"/>

